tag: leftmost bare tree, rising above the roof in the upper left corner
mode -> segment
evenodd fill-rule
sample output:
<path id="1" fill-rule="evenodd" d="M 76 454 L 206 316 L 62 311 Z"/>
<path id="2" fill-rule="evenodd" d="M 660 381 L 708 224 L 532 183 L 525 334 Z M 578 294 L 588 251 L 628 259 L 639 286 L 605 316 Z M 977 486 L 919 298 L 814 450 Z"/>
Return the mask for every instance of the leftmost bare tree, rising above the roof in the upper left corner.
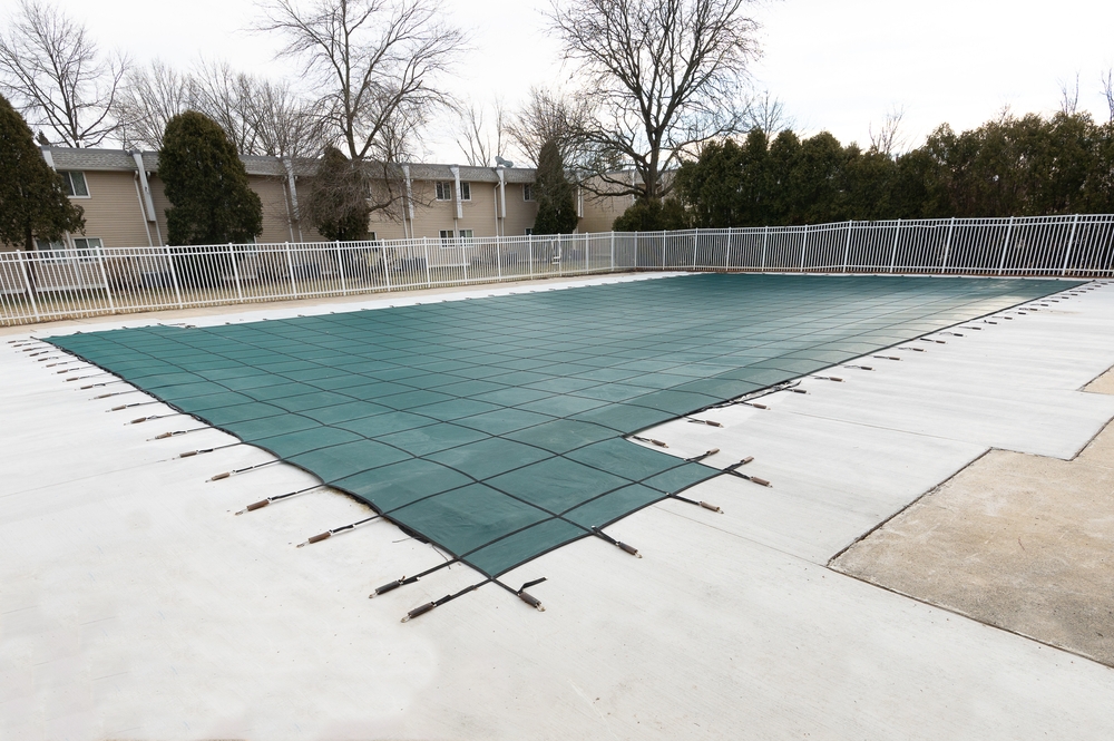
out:
<path id="1" fill-rule="evenodd" d="M 116 130 L 110 110 L 127 67 L 126 57 L 106 59 L 84 26 L 40 0 L 20 0 L 0 35 L 0 87 L 71 147 L 96 146 Z"/>

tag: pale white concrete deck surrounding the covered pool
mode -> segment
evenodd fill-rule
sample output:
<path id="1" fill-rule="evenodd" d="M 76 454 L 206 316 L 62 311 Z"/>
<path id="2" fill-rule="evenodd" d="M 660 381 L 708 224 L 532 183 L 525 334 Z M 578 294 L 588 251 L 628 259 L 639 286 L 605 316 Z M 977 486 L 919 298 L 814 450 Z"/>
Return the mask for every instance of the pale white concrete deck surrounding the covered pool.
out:
<path id="1" fill-rule="evenodd" d="M 219 309 L 196 321 L 310 313 Z M 1079 391 L 1114 364 L 1114 285 L 1008 314 L 770 409 L 701 416 L 722 428 L 656 428 L 671 452 L 720 448 L 711 465 L 755 456 L 773 487 L 720 477 L 686 496 L 722 515 L 667 500 L 610 528 L 642 559 L 588 539 L 509 574 L 548 577 L 531 588 L 545 613 L 488 585 L 407 624 L 475 573 L 369 601 L 442 557 L 385 524 L 294 548 L 367 508 L 315 490 L 236 517 L 313 480 L 274 466 L 207 482 L 271 457 L 174 459 L 229 438 L 149 441 L 192 426 L 125 425 L 138 415 L 108 412 L 118 399 L 4 350 L 0 735 L 1108 738 L 1114 670 L 828 567 L 987 450 L 1068 460 L 1114 417 L 1114 397 Z"/>

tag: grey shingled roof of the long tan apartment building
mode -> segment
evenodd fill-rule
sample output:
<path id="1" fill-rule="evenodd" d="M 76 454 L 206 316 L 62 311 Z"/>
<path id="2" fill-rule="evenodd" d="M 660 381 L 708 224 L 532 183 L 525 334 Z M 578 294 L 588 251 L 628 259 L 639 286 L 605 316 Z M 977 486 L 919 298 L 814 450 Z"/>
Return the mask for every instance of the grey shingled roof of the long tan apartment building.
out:
<path id="1" fill-rule="evenodd" d="M 80 170 L 127 170 L 135 172 L 136 163 L 130 152 L 126 149 L 71 149 L 69 147 L 49 147 L 55 167 L 58 169 Z M 143 152 L 144 167 L 149 173 L 158 172 L 158 153 Z M 285 177 L 286 167 L 280 157 L 261 155 L 241 155 L 241 162 L 248 175 L 263 177 Z M 294 174 L 312 176 L 317 166 L 316 159 L 307 157 L 295 158 Z M 451 181 L 452 168 L 457 165 L 439 165 L 431 163 L 411 163 L 410 176 L 416 181 Z M 498 170 L 502 169 L 507 183 L 532 183 L 532 167 L 470 167 L 460 166 L 460 179 L 472 183 L 498 183 Z"/>

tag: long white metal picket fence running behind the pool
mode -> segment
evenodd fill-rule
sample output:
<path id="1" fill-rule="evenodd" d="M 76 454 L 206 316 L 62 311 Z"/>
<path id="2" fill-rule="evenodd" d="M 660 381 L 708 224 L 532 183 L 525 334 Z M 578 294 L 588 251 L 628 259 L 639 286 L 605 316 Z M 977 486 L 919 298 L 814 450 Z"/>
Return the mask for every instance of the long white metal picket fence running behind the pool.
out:
<path id="1" fill-rule="evenodd" d="M 1098 277 L 1114 215 L 0 252 L 0 325 L 616 271 Z"/>

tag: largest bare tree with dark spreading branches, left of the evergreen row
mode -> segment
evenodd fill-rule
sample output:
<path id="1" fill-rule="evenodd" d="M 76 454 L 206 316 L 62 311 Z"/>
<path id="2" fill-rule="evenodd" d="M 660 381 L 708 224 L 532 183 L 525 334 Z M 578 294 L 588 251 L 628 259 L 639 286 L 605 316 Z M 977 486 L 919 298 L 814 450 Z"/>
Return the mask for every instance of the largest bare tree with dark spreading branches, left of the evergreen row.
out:
<path id="1" fill-rule="evenodd" d="M 659 198 L 670 191 L 662 173 L 683 153 L 745 127 L 741 91 L 758 27 L 743 14 L 750 1 L 554 1 L 550 26 L 602 114 L 587 137 L 600 164 L 622 158 L 642 181 L 598 167 L 596 182 Z"/>

